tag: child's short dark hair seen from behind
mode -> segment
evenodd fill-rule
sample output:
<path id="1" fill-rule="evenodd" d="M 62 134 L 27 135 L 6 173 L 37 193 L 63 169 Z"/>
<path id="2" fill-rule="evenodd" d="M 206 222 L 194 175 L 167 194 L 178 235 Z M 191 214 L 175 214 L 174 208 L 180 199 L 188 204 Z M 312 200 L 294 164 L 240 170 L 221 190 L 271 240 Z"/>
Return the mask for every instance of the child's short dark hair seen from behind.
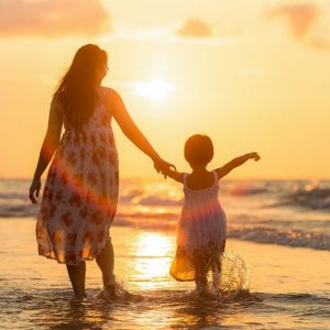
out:
<path id="1" fill-rule="evenodd" d="M 195 134 L 185 143 L 185 158 L 195 165 L 207 165 L 213 158 L 213 143 L 207 135 Z"/>

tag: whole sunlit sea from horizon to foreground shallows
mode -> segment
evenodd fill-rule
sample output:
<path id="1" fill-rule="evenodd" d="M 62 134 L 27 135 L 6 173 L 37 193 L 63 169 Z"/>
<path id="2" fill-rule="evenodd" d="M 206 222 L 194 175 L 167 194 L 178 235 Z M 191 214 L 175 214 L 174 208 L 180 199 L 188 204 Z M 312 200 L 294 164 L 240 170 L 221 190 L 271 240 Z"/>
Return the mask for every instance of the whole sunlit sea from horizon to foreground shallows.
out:
<path id="1" fill-rule="evenodd" d="M 29 185 L 0 180 L 0 328 L 330 329 L 328 180 L 220 182 L 227 262 L 245 287 L 205 299 L 168 274 L 182 186 L 122 179 L 111 229 L 116 275 L 138 299 L 112 305 L 97 298 L 95 262 L 88 297 L 76 301 L 65 266 L 37 255 Z M 227 274 L 228 284 L 234 279 Z"/>

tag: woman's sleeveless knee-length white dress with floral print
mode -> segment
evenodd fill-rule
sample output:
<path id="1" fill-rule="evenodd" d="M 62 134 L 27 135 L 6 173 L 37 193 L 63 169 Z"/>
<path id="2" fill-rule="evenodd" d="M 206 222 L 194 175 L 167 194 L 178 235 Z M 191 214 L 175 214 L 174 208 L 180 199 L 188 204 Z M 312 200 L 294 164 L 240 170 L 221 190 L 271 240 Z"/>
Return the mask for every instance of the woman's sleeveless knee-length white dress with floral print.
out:
<path id="1" fill-rule="evenodd" d="M 97 256 L 109 239 L 118 201 L 118 156 L 103 102 L 81 131 L 74 131 L 66 118 L 64 128 L 43 191 L 36 240 L 40 255 L 77 265 Z"/>

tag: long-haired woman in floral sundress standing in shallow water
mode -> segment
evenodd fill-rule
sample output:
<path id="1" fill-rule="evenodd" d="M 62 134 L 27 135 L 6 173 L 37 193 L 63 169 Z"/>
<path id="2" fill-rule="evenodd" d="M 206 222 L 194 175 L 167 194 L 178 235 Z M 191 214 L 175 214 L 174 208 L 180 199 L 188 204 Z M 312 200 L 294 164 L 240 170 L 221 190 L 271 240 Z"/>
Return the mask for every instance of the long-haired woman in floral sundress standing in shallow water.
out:
<path id="1" fill-rule="evenodd" d="M 30 199 L 36 204 L 41 176 L 55 154 L 36 222 L 38 254 L 66 264 L 77 297 L 85 296 L 85 261 L 96 258 L 105 294 L 111 299 L 116 280 L 109 229 L 119 187 L 111 118 L 151 157 L 157 172 L 172 165 L 160 157 L 132 121 L 119 94 L 101 86 L 107 72 L 108 55 L 97 45 L 87 44 L 75 54 L 53 96 Z"/>

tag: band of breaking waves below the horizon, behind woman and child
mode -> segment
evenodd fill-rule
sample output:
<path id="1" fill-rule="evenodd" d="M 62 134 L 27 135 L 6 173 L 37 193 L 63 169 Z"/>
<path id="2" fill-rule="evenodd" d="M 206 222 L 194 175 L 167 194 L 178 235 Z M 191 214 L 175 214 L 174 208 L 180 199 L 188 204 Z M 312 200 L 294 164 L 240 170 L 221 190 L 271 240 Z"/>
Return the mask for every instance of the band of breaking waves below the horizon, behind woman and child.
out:
<path id="1" fill-rule="evenodd" d="M 36 217 L 29 185 L 30 180 L 0 180 L 0 221 Z M 224 180 L 220 202 L 228 216 L 229 238 L 330 250 L 330 182 Z M 176 183 L 123 179 L 113 224 L 175 230 L 182 204 L 182 187 Z"/>

